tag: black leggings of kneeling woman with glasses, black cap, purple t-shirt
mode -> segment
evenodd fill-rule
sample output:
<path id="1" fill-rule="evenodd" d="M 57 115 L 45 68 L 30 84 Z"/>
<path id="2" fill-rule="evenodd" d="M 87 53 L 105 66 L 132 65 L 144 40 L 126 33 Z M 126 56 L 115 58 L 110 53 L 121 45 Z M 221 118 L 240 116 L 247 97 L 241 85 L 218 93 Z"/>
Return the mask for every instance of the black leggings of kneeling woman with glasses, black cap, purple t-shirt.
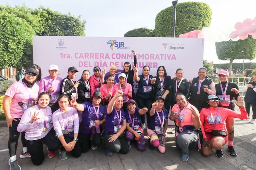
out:
<path id="1" fill-rule="evenodd" d="M 82 132 L 78 133 L 78 138 L 81 143 L 81 149 L 82 152 L 87 152 L 91 146 L 91 134 L 90 135 L 84 135 Z M 95 133 L 94 137 L 92 138 L 92 145 L 94 146 L 100 146 L 102 144 L 102 138 L 100 137 L 100 133 Z"/>

